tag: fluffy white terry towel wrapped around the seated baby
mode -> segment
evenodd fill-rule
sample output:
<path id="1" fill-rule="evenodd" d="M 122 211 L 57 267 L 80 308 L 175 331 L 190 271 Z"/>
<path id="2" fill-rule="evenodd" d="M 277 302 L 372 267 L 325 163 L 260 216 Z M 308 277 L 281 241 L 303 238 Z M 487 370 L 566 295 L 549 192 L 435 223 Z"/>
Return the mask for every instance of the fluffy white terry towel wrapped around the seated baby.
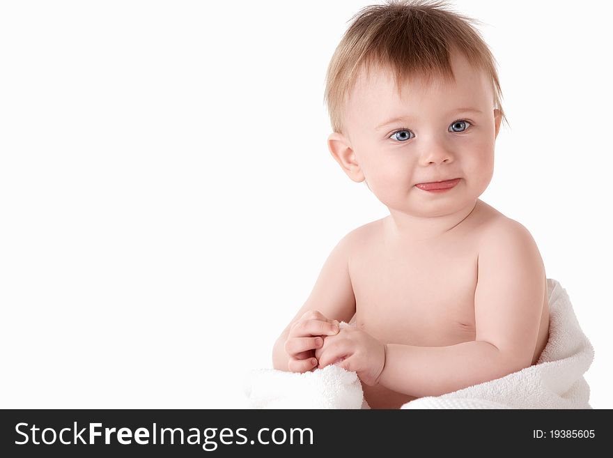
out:
<path id="1" fill-rule="evenodd" d="M 550 278 L 547 285 L 549 340 L 536 365 L 462 390 L 421 397 L 401 409 L 591 409 L 583 374 L 593 360 L 593 348 L 566 290 Z M 368 408 L 357 374 L 336 365 L 304 374 L 251 371 L 245 395 L 251 409 Z"/>

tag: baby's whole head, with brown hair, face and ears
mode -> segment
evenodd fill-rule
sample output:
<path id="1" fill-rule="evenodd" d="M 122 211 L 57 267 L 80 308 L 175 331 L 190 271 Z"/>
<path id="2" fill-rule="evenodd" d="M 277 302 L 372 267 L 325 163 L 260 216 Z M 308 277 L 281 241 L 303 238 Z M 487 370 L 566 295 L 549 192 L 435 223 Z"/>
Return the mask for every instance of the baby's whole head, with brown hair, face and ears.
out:
<path id="1" fill-rule="evenodd" d="M 327 71 L 329 150 L 356 182 L 403 213 L 470 205 L 493 174 L 506 121 L 488 45 L 438 1 L 389 1 L 352 19 Z M 447 192 L 419 183 L 460 178 Z"/>

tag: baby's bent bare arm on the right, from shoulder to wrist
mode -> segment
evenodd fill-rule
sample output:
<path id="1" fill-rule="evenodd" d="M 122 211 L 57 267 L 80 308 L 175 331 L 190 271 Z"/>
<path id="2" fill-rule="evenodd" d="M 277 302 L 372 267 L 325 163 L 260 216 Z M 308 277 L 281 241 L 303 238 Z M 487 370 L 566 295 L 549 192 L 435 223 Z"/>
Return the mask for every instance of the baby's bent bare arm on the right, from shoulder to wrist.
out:
<path id="1" fill-rule="evenodd" d="M 415 397 L 438 396 L 529 367 L 543 307 L 545 267 L 520 223 L 501 222 L 479 250 L 474 342 L 387 344 L 379 383 Z"/>

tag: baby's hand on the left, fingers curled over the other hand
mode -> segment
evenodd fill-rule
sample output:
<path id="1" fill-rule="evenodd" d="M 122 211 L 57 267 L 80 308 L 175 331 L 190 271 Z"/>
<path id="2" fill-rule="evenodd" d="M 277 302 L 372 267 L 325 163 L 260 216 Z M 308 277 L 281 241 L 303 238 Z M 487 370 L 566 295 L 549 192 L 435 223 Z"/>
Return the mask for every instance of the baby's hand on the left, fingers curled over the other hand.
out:
<path id="1" fill-rule="evenodd" d="M 308 372 L 316 367 L 315 349 L 323 346 L 323 338 L 339 332 L 339 322 L 327 319 L 317 310 L 310 310 L 293 323 L 285 342 L 290 356 L 290 372 Z"/>

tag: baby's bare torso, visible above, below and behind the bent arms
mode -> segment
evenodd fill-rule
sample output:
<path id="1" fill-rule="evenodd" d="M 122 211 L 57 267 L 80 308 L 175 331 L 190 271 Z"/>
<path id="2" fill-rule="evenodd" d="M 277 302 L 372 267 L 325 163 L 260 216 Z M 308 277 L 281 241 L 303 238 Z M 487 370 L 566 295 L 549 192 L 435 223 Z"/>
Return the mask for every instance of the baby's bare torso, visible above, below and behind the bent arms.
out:
<path id="1" fill-rule="evenodd" d="M 444 237 L 427 245 L 403 243 L 386 231 L 388 218 L 356 231 L 349 271 L 355 293 L 358 328 L 385 343 L 448 346 L 474 341 L 474 293 L 481 234 L 504 215 L 479 200 L 474 211 Z M 409 280 L 410 279 L 410 280 Z M 548 340 L 549 307 L 545 295 L 531 363 Z M 398 409 L 415 399 L 362 383 L 373 409 Z"/>

